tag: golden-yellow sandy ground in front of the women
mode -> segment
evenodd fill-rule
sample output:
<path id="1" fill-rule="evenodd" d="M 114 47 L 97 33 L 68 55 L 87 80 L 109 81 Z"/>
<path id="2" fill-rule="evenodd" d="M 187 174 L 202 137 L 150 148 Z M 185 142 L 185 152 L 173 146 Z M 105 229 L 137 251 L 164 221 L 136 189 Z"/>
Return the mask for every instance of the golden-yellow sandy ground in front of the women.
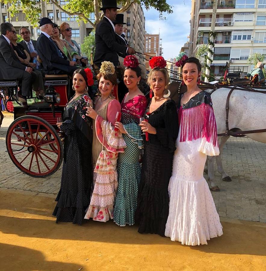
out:
<path id="1" fill-rule="evenodd" d="M 223 219 L 224 235 L 189 247 L 113 221 L 56 224 L 47 195 L 0 198 L 1 270 L 266 270 L 265 223 Z"/>

